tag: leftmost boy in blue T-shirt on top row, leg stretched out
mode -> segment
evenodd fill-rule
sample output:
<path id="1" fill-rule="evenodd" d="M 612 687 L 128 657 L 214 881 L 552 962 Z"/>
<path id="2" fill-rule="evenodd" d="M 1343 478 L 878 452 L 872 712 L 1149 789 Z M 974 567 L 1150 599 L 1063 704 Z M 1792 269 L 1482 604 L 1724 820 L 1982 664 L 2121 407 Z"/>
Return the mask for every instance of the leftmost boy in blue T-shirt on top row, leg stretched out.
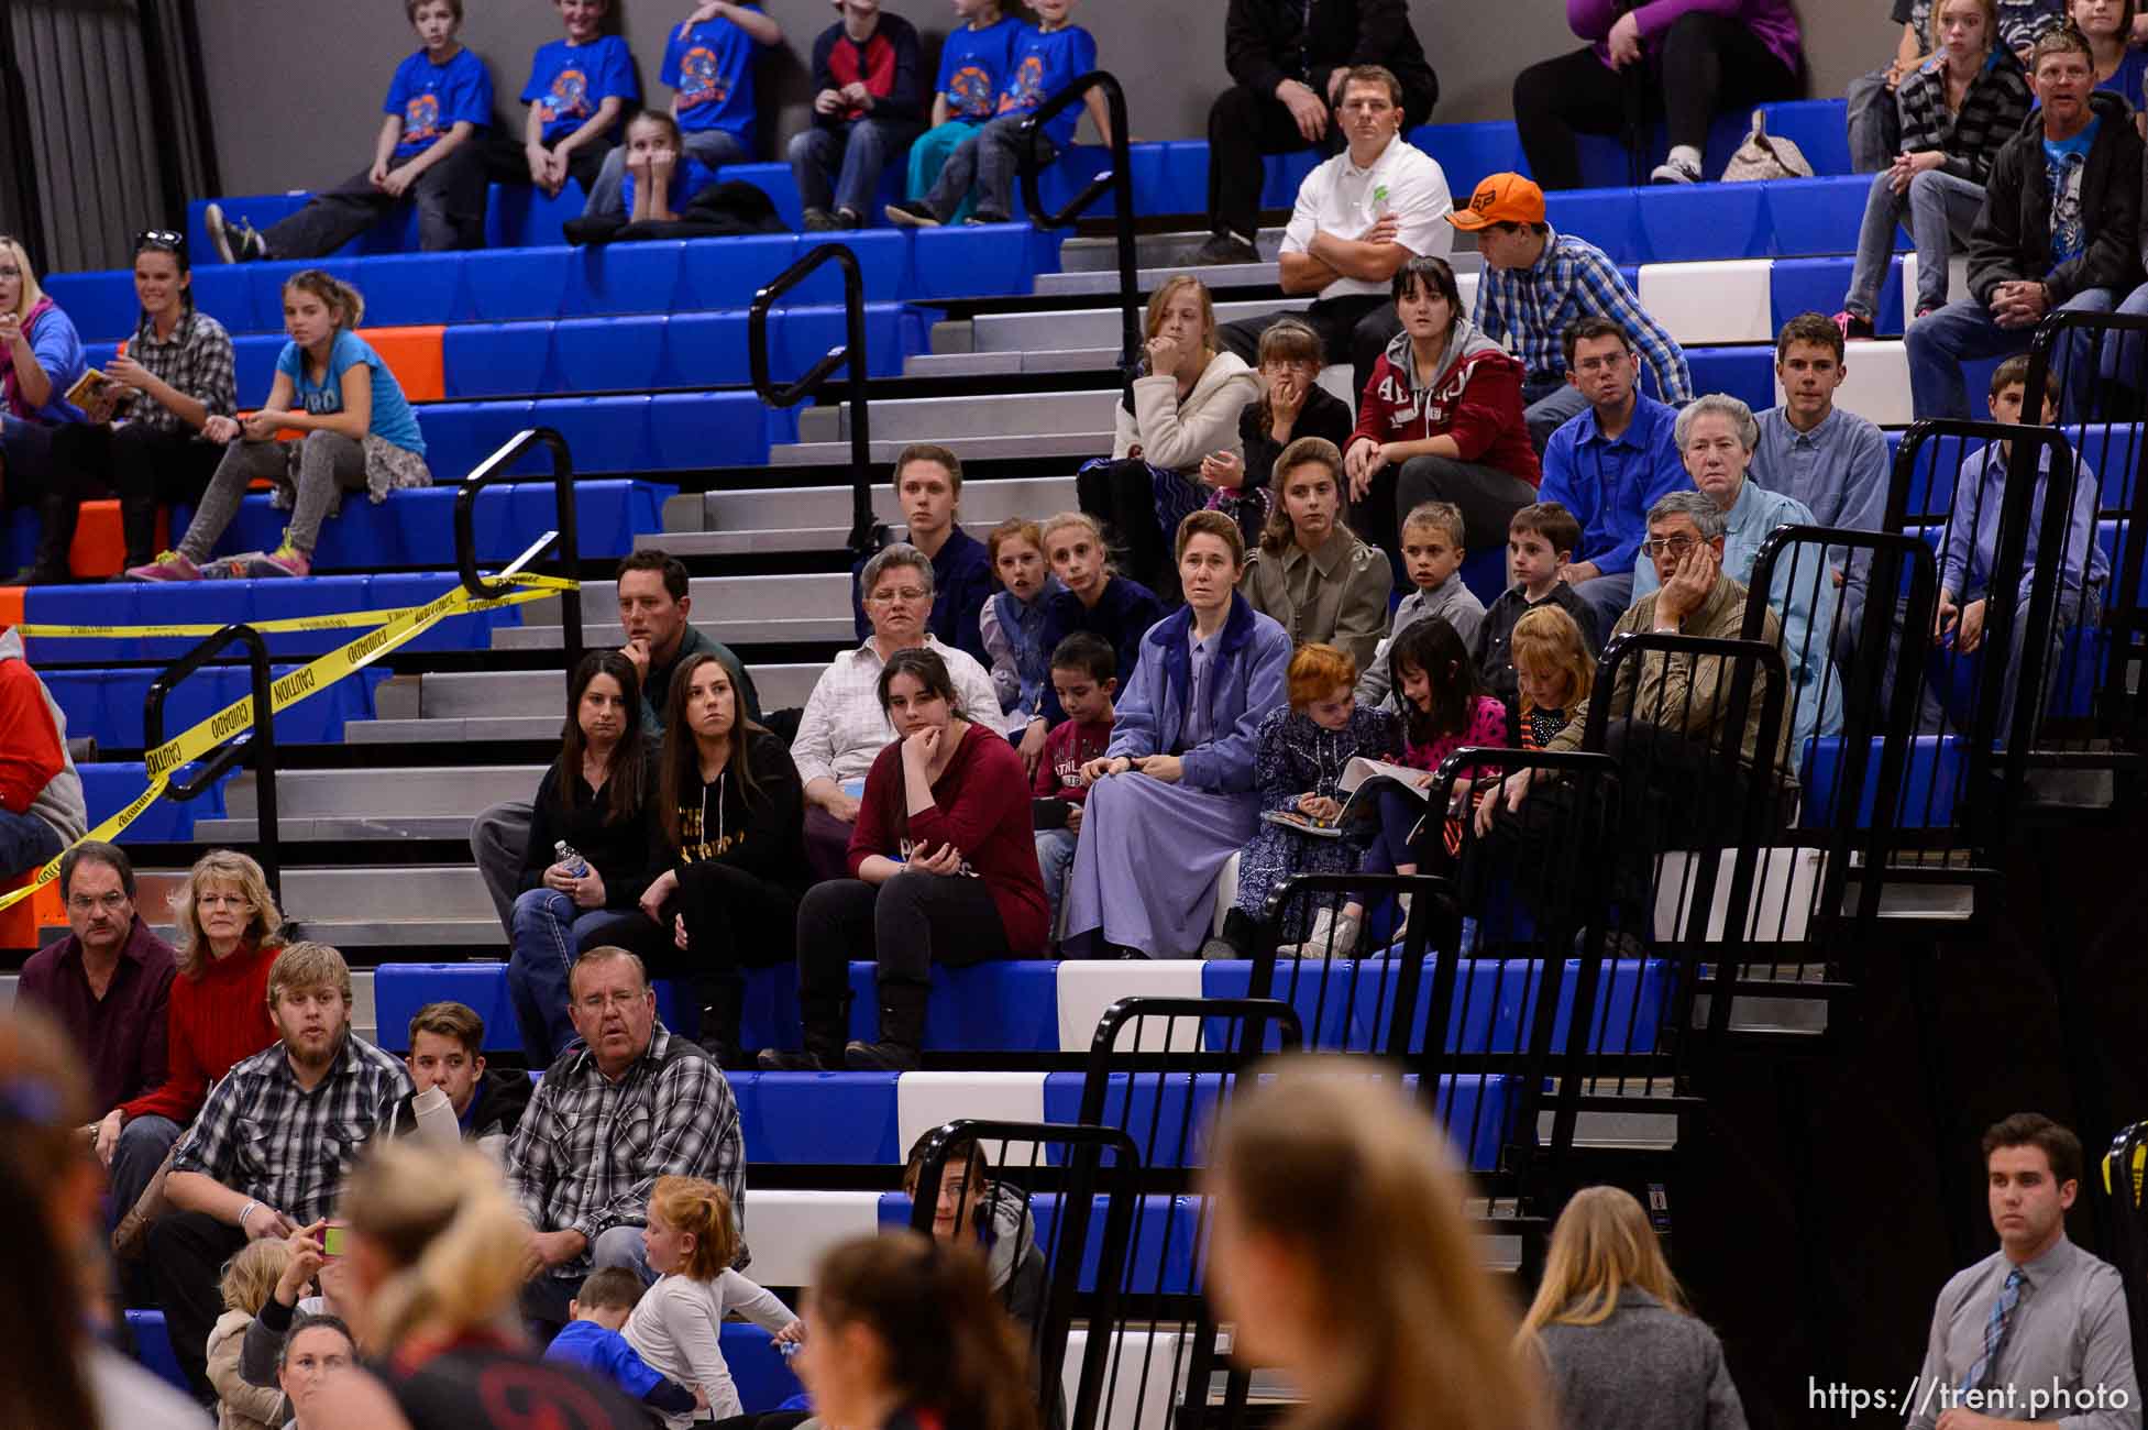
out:
<path id="1" fill-rule="evenodd" d="M 211 204 L 204 223 L 228 264 L 266 258 L 326 258 L 406 198 L 417 202 L 419 247 L 475 249 L 485 238 L 485 170 L 473 142 L 492 122 L 492 75 L 462 47 L 462 0 L 404 0 L 423 47 L 395 67 L 374 163 L 256 234 L 226 223 Z"/>

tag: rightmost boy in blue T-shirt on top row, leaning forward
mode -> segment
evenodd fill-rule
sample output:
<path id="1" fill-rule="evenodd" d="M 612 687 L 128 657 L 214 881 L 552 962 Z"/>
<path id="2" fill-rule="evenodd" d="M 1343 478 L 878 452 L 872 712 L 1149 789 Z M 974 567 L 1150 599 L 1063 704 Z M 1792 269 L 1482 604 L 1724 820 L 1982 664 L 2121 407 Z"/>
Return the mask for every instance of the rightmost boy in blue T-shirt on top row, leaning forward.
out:
<path id="1" fill-rule="evenodd" d="M 1014 217 L 1014 180 L 1020 172 L 1020 127 L 1048 99 L 1095 69 L 1095 39 L 1072 24 L 1074 0 L 1033 0 L 1035 26 L 1022 26 L 1007 54 L 1007 77 L 999 88 L 997 116 L 964 140 L 930 193 L 921 200 L 889 204 L 887 217 L 902 228 L 939 228 L 949 223 L 962 200 L 975 191 L 977 210 L 969 223 L 1005 223 Z M 1111 112 L 1104 90 L 1091 88 L 1087 99 L 1095 133 L 1111 144 Z M 1074 142 L 1080 114 L 1065 110 L 1037 135 L 1037 163 L 1050 163 Z"/>

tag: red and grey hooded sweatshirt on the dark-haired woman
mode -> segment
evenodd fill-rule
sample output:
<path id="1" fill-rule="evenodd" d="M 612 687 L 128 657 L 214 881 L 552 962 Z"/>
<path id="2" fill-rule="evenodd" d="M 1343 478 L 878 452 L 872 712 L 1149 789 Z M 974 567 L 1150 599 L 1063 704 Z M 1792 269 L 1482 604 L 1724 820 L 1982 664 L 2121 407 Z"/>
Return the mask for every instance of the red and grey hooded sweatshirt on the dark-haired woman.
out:
<path id="1" fill-rule="evenodd" d="M 1409 333 L 1396 333 L 1364 384 L 1358 429 L 1349 440 L 1454 438 L 1463 462 L 1495 466 L 1534 487 L 1544 468 L 1521 414 L 1521 361 L 1467 318 L 1454 320 L 1439 371 L 1428 378 L 1418 374 Z"/>

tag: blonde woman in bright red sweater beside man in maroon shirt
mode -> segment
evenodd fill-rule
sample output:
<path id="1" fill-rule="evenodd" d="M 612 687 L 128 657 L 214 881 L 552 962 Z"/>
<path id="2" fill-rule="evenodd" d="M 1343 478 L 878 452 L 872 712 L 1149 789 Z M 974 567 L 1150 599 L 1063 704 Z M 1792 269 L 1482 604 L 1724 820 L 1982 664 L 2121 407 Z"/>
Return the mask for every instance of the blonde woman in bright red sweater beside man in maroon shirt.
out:
<path id="1" fill-rule="evenodd" d="M 178 977 L 163 1086 L 120 1104 L 97 1125 L 97 1155 L 112 1168 L 114 1224 L 133 1211 L 202 1110 L 208 1084 L 277 1039 L 268 1022 L 268 964 L 284 949 L 284 915 L 268 898 L 262 867 L 228 848 L 208 850 L 187 876 L 174 913 Z"/>

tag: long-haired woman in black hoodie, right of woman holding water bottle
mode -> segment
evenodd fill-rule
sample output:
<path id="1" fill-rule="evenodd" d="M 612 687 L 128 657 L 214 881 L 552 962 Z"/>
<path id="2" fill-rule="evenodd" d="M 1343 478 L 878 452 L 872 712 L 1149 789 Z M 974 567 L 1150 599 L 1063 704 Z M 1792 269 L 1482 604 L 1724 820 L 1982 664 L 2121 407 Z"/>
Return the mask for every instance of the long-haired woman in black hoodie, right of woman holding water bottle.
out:
<path id="1" fill-rule="evenodd" d="M 806 889 L 806 792 L 784 743 L 739 711 L 730 668 L 690 655 L 664 709 L 662 807 L 642 913 L 674 930 L 700 996 L 700 1044 L 722 1067 L 739 1048 L 741 964 L 797 955 Z"/>

